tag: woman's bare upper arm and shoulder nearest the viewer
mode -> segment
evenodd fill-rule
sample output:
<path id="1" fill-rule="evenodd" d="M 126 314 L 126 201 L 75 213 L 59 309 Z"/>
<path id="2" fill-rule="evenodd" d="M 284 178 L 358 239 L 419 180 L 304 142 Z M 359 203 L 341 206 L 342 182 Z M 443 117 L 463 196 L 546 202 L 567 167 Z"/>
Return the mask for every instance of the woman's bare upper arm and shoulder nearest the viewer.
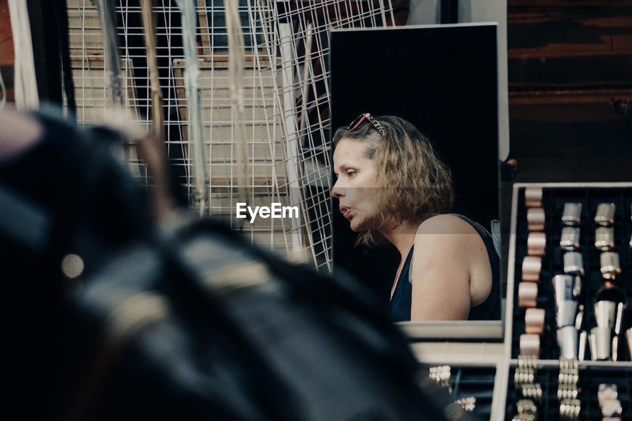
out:
<path id="1" fill-rule="evenodd" d="M 420 225 L 411 268 L 411 320 L 467 320 L 470 251 L 478 236 L 470 229 L 453 215 L 434 216 Z"/>

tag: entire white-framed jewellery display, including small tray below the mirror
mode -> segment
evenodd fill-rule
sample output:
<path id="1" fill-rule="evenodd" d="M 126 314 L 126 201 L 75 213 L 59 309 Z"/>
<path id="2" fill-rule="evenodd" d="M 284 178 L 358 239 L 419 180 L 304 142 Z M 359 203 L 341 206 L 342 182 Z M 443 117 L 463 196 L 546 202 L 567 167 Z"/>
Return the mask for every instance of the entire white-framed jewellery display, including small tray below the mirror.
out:
<path id="1" fill-rule="evenodd" d="M 560 401 L 557 396 L 560 373 L 560 350 L 557 344 L 556 298 L 552 278 L 564 274 L 563 255 L 560 247 L 562 238 L 562 214 L 567 202 L 581 204 L 580 240 L 576 251 L 581 253 L 585 272 L 581 278 L 582 288 L 573 296 L 583 306 L 581 329 L 588 331 L 595 326 L 593 302 L 595 295 L 604 286 L 612 291 L 621 291 L 623 301 L 632 300 L 632 183 L 516 183 L 513 188 L 511 210 L 511 233 L 509 259 L 507 261 L 507 298 L 504 312 L 503 342 L 478 337 L 472 329 L 466 337 L 459 335 L 435 338 L 428 326 L 403 326 L 411 338 L 411 349 L 420 361 L 433 365 L 446 364 L 451 367 L 451 379 L 458 379 L 458 397 L 466 394 L 477 398 L 477 415 L 480 419 L 493 421 L 513 420 L 518 413 L 516 403 L 523 398 L 514 387 L 514 374 L 518 367 L 520 336 L 525 333 L 525 308 L 518 306 L 518 286 L 522 281 L 522 263 L 528 255 L 527 207 L 524 193 L 526 188 L 542 188 L 542 209 L 545 214 L 544 234 L 546 245 L 542 256 L 537 286 L 537 308 L 545 310 L 544 329 L 539 338 L 539 352 L 535 357 L 537 371 L 535 382 L 540 384 L 542 400 L 537 402 L 537 420 L 559 420 Z M 601 203 L 612 203 L 615 207 L 612 228 L 614 229 L 614 251 L 619 253 L 621 272 L 614 279 L 606 279 L 600 271 L 600 255 L 603 250 L 595 247 L 595 230 L 600 226 L 594 217 Z M 605 284 L 606 281 L 611 282 Z M 616 289 L 612 289 L 612 287 Z M 600 292 L 602 293 L 602 292 Z M 629 323 L 629 320 L 628 320 Z M 436 329 L 435 329 L 436 330 Z M 622 419 L 632 419 L 632 362 L 628 347 L 620 336 L 617 361 L 592 360 L 590 347 L 586 344 L 585 360 L 578 360 L 578 394 L 580 420 L 602 420 L 603 415 L 597 391 L 601 384 L 616 385 L 621 403 Z M 487 342 L 481 342 L 487 340 Z M 493 380 L 492 380 L 493 377 Z M 456 393 L 456 385 L 453 384 Z M 478 419 L 478 418 L 477 418 Z"/>

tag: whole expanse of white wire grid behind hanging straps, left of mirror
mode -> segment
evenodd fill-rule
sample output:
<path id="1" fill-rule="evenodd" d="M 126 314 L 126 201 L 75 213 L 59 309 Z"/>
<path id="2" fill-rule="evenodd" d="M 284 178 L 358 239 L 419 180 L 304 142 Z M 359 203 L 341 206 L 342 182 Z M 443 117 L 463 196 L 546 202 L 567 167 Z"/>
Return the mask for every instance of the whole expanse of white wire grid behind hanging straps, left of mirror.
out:
<path id="1" fill-rule="evenodd" d="M 80 125 L 104 121 L 112 106 L 98 1 L 67 0 Z M 328 32 L 390 24 L 391 0 L 239 0 L 232 18 L 223 0 L 191 3 L 197 15 L 201 142 L 209 174 L 206 211 L 226 219 L 253 243 L 310 256 L 316 267 L 329 271 Z M 191 119 L 182 40 L 191 28 L 183 28 L 174 0 L 154 0 L 152 15 L 166 150 L 179 185 L 191 194 Z M 149 127 L 150 77 L 138 0 L 116 2 L 116 34 L 126 118 Z M 242 42 L 234 44 L 233 39 L 231 46 L 231 34 L 239 34 Z M 231 70 L 236 59 L 243 63 L 238 76 Z M 140 162 L 135 164 L 143 174 Z M 245 218 L 236 217 L 242 200 L 253 209 L 274 203 L 289 212 L 296 207 L 298 214 L 256 217 L 251 223 L 248 212 Z"/>

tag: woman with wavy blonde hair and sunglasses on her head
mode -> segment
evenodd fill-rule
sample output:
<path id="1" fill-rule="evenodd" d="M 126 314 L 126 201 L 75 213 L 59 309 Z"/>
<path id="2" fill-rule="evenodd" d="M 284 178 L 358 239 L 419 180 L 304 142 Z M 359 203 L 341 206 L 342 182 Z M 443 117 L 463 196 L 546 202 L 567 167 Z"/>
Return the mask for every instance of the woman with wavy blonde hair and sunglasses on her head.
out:
<path id="1" fill-rule="evenodd" d="M 453 203 L 449 168 L 408 121 L 362 114 L 334 134 L 332 196 L 357 243 L 387 240 L 400 255 L 392 321 L 500 319 L 492 238 Z"/>

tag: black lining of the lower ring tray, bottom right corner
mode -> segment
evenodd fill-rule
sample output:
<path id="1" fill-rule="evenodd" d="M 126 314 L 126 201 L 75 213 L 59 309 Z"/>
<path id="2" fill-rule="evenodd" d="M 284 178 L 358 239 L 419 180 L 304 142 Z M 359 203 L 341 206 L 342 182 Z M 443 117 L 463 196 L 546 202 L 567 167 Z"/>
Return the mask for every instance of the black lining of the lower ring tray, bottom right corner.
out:
<path id="1" fill-rule="evenodd" d="M 514 378 L 516 367 L 513 366 L 509 370 L 509 379 Z M 558 365 L 547 365 L 546 367 L 538 367 L 535 374 L 535 382 L 542 386 L 542 400 L 537 403 L 539 421 L 559 420 L 559 400 L 557 399 L 557 375 L 559 374 Z M 611 366 L 604 365 L 581 365 L 580 377 L 578 382 L 579 394 L 581 400 L 580 420 L 585 421 L 602 421 L 602 415 L 599 401 L 597 401 L 597 391 L 600 384 L 616 384 L 618 396 L 621 402 L 622 420 L 632 419 L 632 392 L 630 384 L 632 382 L 632 370 L 616 370 Z M 516 415 L 516 402 L 521 396 L 513 387 L 512 381 L 509 382 L 507 389 L 507 405 L 505 419 L 511 420 Z"/>

